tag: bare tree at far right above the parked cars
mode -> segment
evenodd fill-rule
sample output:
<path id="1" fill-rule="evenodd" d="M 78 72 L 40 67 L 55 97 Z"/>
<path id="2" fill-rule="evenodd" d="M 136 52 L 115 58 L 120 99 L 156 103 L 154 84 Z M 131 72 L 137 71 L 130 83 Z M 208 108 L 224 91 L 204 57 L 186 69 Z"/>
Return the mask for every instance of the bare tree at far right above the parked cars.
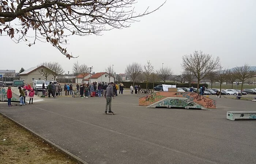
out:
<path id="1" fill-rule="evenodd" d="M 255 76 L 255 70 L 251 70 L 248 64 L 243 65 L 242 67 L 235 67 L 234 73 L 237 75 L 237 79 L 241 80 L 241 93 L 243 89 L 244 82 Z"/>

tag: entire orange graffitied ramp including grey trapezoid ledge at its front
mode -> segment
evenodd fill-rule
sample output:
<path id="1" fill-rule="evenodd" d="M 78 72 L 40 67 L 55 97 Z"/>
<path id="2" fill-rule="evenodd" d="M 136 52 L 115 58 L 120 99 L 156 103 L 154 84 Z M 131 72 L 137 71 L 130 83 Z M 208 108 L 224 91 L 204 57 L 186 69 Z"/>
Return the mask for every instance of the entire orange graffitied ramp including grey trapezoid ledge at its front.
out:
<path id="1" fill-rule="evenodd" d="M 193 104 L 192 104 L 193 102 Z M 182 104 L 183 103 L 183 104 Z M 185 103 L 187 106 L 185 107 Z M 159 91 L 157 93 L 152 93 L 139 98 L 139 105 L 148 106 L 148 108 L 156 108 L 157 106 L 163 107 L 168 106 L 189 108 L 216 108 L 216 101 L 204 97 L 203 95 L 197 94 L 195 92 L 169 92 L 169 91 Z M 175 104 L 175 105 L 174 105 Z M 180 106 L 181 105 L 181 106 Z M 191 105 L 191 106 L 189 106 Z"/>

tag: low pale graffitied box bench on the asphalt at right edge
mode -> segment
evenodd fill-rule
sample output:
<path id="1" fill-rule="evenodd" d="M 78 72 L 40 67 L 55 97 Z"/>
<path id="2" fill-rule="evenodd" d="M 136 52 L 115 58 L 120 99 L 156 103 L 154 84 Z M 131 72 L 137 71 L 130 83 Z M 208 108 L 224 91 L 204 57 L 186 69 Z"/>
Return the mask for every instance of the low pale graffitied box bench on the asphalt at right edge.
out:
<path id="1" fill-rule="evenodd" d="M 237 119 L 256 119 L 256 111 L 227 111 L 228 120 L 237 120 Z"/>

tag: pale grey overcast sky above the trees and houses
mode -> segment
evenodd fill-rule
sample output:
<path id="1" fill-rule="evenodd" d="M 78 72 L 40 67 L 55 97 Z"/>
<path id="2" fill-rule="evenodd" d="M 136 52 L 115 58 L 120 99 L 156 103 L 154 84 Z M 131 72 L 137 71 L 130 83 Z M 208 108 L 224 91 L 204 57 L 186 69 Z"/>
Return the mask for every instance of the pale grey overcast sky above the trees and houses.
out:
<path id="1" fill-rule="evenodd" d="M 135 10 L 154 9 L 163 0 L 139 0 Z M 175 74 L 182 71 L 181 56 L 202 50 L 219 56 L 224 68 L 248 63 L 256 66 L 256 1 L 255 0 L 167 0 L 158 11 L 139 18 L 140 22 L 122 30 L 103 32 L 102 36 L 72 36 L 67 50 L 78 59 L 68 60 L 50 44 L 25 42 L 15 44 L 1 36 L 0 69 L 19 71 L 41 62 L 59 62 L 65 73 L 73 63 L 93 66 L 104 71 L 124 73 L 126 65 L 150 60 L 155 69 L 170 66 Z M 64 46 L 63 46 L 64 47 Z"/>

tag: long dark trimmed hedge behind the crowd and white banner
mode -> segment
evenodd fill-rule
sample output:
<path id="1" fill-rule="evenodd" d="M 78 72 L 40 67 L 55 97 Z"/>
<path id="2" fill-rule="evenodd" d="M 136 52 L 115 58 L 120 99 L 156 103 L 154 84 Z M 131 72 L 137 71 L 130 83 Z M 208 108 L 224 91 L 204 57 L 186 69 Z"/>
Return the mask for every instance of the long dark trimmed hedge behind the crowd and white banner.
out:
<path id="1" fill-rule="evenodd" d="M 124 81 L 124 82 L 117 82 L 118 84 L 120 83 L 123 83 L 124 84 L 124 88 L 130 88 L 131 85 L 133 85 L 133 82 L 128 82 L 128 81 Z M 161 82 L 139 82 L 139 83 L 134 83 L 134 85 L 140 85 L 140 88 L 141 89 L 145 89 L 146 86 L 149 88 L 149 89 L 153 89 L 155 86 L 157 85 L 162 85 L 163 83 Z M 166 85 L 175 85 L 174 82 L 166 82 L 165 83 Z M 208 88 L 208 84 L 199 84 L 199 87 L 202 87 L 202 86 L 205 86 L 206 88 Z M 189 83 L 176 83 L 176 87 L 189 87 Z M 197 87 L 197 84 L 193 83 L 193 84 L 190 84 L 190 87 L 194 87 L 196 88 Z"/>

